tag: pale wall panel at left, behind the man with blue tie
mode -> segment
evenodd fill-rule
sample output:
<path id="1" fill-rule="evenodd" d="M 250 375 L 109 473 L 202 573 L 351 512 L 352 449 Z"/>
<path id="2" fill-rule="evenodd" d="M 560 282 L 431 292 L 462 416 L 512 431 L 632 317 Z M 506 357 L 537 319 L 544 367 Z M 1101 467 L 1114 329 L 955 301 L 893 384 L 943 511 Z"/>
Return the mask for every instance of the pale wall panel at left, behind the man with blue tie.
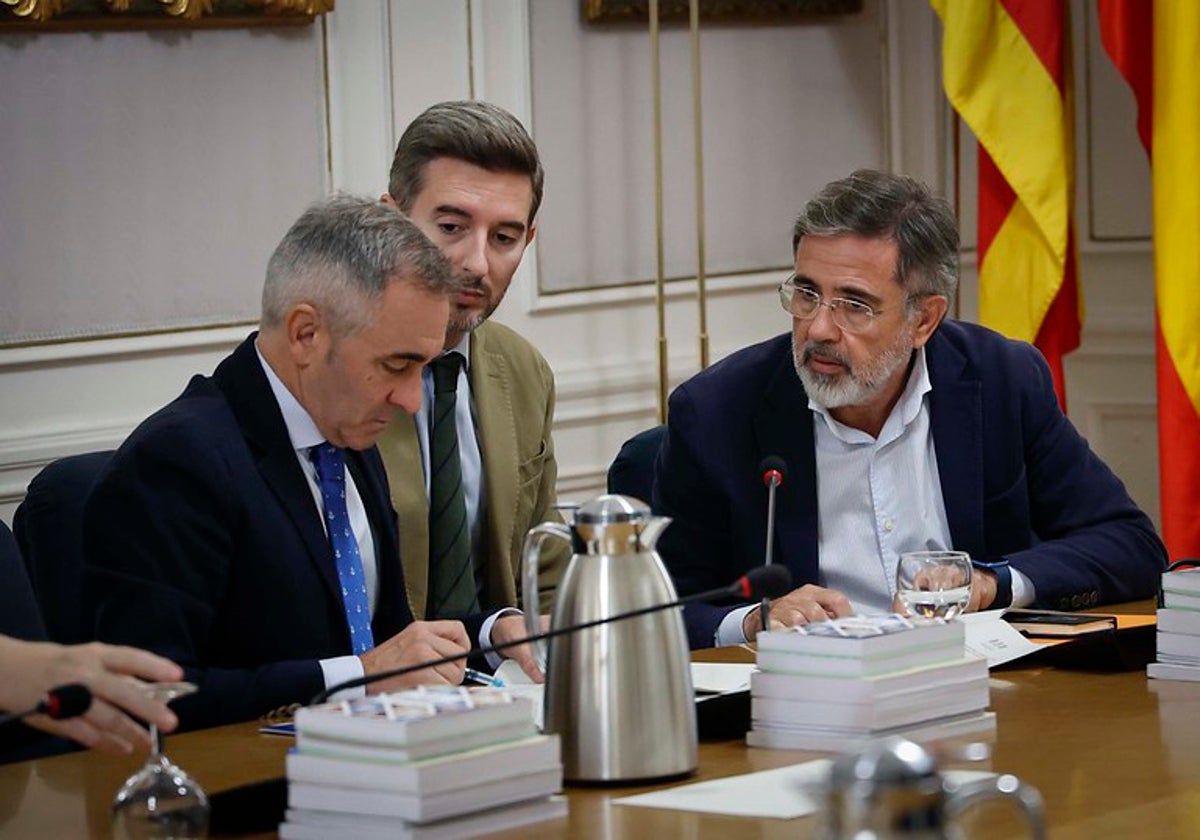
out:
<path id="1" fill-rule="evenodd" d="M 322 76 L 313 26 L 0 37 L 0 342 L 256 318 Z"/>

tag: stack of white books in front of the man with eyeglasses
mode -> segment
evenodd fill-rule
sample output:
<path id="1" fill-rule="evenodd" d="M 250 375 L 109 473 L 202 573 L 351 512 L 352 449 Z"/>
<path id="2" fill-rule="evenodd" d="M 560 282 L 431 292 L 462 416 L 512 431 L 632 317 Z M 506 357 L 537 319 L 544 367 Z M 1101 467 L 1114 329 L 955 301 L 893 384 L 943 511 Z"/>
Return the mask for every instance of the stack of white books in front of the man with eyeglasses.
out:
<path id="1" fill-rule="evenodd" d="M 988 662 L 967 655 L 953 620 L 856 616 L 760 634 L 750 694 L 750 746 L 846 750 L 996 728 Z"/>

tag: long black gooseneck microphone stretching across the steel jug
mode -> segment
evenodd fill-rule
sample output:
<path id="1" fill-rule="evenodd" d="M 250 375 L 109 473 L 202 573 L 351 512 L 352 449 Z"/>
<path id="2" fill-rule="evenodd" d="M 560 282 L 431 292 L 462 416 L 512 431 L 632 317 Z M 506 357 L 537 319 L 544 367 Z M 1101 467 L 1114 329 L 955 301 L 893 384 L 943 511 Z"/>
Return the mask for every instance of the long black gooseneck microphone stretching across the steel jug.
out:
<path id="1" fill-rule="evenodd" d="M 509 648 L 515 648 L 520 644 L 527 644 L 529 642 L 540 642 L 545 638 L 554 638 L 556 636 L 566 636 L 572 632 L 578 632 L 580 630 L 587 630 L 588 628 L 596 628 L 601 624 L 611 624 L 613 622 L 624 622 L 628 618 L 637 618 L 638 616 L 646 616 L 652 612 L 659 612 L 660 610 L 671 610 L 672 607 L 682 607 L 686 604 L 694 604 L 696 601 L 714 601 L 719 598 L 740 598 L 744 600 L 755 600 L 758 598 L 778 598 L 779 595 L 786 594 L 792 588 L 792 572 L 790 572 L 785 566 L 760 566 L 757 569 L 751 569 L 745 575 L 733 581 L 728 586 L 720 587 L 718 589 L 709 589 L 708 592 L 701 592 L 695 595 L 688 595 L 686 598 L 680 598 L 674 601 L 667 601 L 666 604 L 653 604 L 648 607 L 641 607 L 640 610 L 630 610 L 629 612 L 620 612 L 616 616 L 608 616 L 607 618 L 598 618 L 593 622 L 582 622 L 581 624 L 571 624 L 565 628 L 557 628 L 554 630 L 547 630 L 545 632 L 538 632 L 532 636 L 526 636 L 524 638 L 516 638 L 511 642 L 503 642 L 500 644 L 492 644 L 486 647 L 480 647 L 474 650 L 466 650 L 463 653 L 451 654 L 449 656 L 442 656 L 440 659 L 431 659 L 425 662 L 418 662 L 416 665 L 407 665 L 402 668 L 392 668 L 391 671 L 380 671 L 378 673 L 366 674 L 364 677 L 358 677 L 355 679 L 348 679 L 344 683 L 337 683 L 331 685 L 317 694 L 312 698 L 310 706 L 316 706 L 317 703 L 324 703 L 332 695 L 338 691 L 344 691 L 346 689 L 356 689 L 362 685 L 370 685 L 371 683 L 378 683 L 384 679 L 392 679 L 395 677 L 403 677 L 404 674 L 415 673 L 416 671 L 425 671 L 426 668 L 433 668 L 438 665 L 449 665 L 450 662 L 458 662 L 476 653 L 498 653 L 500 650 L 508 650 Z"/>

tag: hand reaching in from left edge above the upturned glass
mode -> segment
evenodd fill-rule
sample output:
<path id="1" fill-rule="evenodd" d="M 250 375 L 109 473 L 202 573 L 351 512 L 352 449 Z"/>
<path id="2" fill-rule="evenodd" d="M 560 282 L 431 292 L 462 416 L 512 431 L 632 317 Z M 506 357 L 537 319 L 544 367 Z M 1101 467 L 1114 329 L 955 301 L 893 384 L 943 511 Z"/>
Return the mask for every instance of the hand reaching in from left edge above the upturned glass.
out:
<path id="1" fill-rule="evenodd" d="M 91 690 L 88 712 L 71 720 L 44 715 L 26 719 L 30 726 L 77 740 L 106 752 L 132 752 L 149 746 L 150 737 L 130 715 L 148 720 L 163 732 L 178 725 L 166 703 L 151 700 L 142 678 L 176 682 L 184 671 L 170 660 L 136 648 L 92 642 L 62 646 L 0 638 L 0 707 L 20 709 L 34 706 L 53 688 L 83 683 Z"/>

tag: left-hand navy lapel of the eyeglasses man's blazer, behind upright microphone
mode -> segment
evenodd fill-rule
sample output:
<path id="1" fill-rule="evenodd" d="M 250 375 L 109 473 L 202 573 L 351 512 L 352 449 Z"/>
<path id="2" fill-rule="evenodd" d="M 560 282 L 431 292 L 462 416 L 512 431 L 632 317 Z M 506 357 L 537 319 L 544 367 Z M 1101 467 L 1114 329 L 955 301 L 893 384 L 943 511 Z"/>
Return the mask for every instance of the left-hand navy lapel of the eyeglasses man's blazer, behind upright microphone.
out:
<path id="1" fill-rule="evenodd" d="M 775 497 L 774 562 L 786 563 L 799 586 L 817 582 L 816 452 L 812 412 L 792 366 L 791 343 L 787 348 L 767 383 L 754 425 L 758 457 L 775 455 L 787 463 L 787 478 Z M 767 491 L 757 478 L 756 484 L 766 522 Z"/>

